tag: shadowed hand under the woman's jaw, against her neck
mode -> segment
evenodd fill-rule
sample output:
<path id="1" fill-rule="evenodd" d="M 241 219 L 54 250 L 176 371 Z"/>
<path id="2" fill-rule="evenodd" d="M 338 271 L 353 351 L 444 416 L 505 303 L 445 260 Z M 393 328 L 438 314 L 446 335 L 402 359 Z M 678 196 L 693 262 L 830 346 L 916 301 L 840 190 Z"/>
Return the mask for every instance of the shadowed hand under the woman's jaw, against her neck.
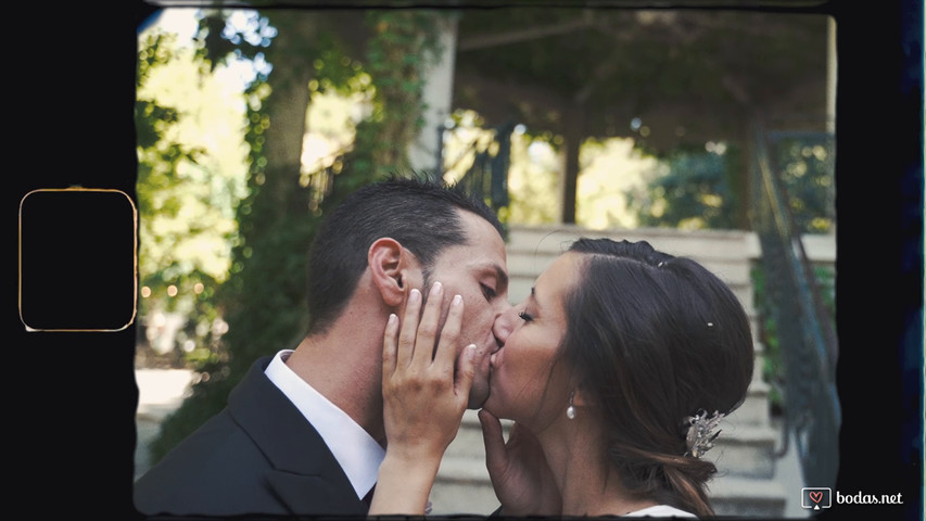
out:
<path id="1" fill-rule="evenodd" d="M 540 442 L 515 423 L 508 442 L 502 422 L 485 409 L 479 411 L 485 443 L 485 466 L 502 504 L 503 516 L 559 516 L 562 497 Z"/>

